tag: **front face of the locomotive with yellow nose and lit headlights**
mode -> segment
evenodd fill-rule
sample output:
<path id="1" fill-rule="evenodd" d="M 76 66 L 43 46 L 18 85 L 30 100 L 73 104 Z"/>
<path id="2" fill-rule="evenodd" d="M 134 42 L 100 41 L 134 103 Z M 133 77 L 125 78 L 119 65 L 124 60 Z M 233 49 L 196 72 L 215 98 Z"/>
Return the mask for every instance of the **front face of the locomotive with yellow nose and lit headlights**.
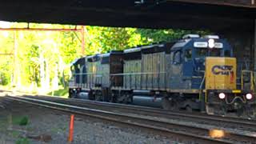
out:
<path id="1" fill-rule="evenodd" d="M 236 110 L 240 115 L 253 110 L 250 107 L 255 104 L 253 72 L 250 72 L 250 85 L 247 87 L 243 86 L 244 78 L 237 80 L 236 58 L 233 58 L 231 46 L 225 40 L 218 37 L 195 40 L 193 66 L 194 76 L 203 75 L 199 99 L 204 101 L 208 114 L 224 115 L 228 110 Z"/>

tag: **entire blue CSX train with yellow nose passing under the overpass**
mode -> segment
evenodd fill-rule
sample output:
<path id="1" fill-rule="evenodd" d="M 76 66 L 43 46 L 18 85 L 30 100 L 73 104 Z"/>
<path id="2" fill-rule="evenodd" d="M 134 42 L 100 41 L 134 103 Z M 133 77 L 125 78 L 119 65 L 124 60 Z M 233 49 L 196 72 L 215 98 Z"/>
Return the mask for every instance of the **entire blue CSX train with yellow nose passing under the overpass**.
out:
<path id="1" fill-rule="evenodd" d="M 112 50 L 74 61 L 70 98 L 133 103 L 161 100 L 163 109 L 252 115 L 254 72 L 238 70 L 230 44 L 217 35 Z"/>

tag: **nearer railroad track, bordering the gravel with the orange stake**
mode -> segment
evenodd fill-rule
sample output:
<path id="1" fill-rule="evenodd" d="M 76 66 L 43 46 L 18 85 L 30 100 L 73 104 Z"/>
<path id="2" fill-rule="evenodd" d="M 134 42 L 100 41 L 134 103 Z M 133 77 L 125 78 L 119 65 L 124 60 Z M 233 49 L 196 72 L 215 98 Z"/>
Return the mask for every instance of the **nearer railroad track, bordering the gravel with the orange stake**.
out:
<path id="1" fill-rule="evenodd" d="M 88 107 L 70 105 L 67 101 L 50 102 L 49 100 L 42 100 L 37 98 L 24 97 L 6 97 L 12 101 L 26 102 L 35 106 L 44 106 L 50 109 L 62 110 L 74 114 L 82 114 L 94 118 L 104 119 L 110 122 L 117 122 L 128 126 L 139 127 L 145 129 L 147 132 L 154 132 L 155 134 L 165 135 L 166 137 L 178 138 L 186 142 L 198 143 L 254 143 L 255 137 L 226 133 L 222 138 L 210 138 L 209 129 L 200 128 L 197 126 L 182 125 L 174 122 L 162 122 L 156 119 L 142 118 L 136 115 L 126 113 L 116 113 L 108 110 L 97 110 Z M 54 98 L 53 98 L 54 99 Z"/>

